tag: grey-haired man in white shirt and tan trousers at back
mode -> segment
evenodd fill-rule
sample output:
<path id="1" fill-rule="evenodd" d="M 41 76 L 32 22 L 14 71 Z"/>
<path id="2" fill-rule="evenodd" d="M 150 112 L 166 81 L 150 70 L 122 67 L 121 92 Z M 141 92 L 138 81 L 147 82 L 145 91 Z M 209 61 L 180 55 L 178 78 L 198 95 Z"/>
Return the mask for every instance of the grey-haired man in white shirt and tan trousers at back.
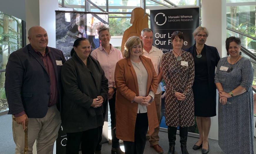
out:
<path id="1" fill-rule="evenodd" d="M 155 104 L 156 104 L 156 109 L 157 109 L 157 118 L 158 118 L 158 122 L 160 125 L 160 114 L 161 114 L 161 95 L 162 95 L 162 89 L 161 89 L 161 84 L 160 82 L 162 81 L 162 71 L 161 71 L 161 60 L 162 60 L 162 56 L 163 56 L 163 51 L 152 46 L 153 45 L 153 31 L 152 29 L 149 28 L 145 28 L 141 31 L 141 36 L 140 38 L 142 39 L 142 42 L 144 44 L 143 46 L 143 52 L 144 52 L 144 56 L 147 56 L 149 58 L 151 58 L 151 61 L 154 65 L 155 71 L 158 75 L 158 89 L 157 92 L 155 94 Z M 159 126 L 157 128 L 155 128 L 155 131 L 152 135 L 150 135 L 150 139 L 149 139 L 149 143 L 150 143 L 150 147 L 154 148 L 156 150 L 157 153 L 164 153 L 164 150 L 158 145 L 158 141 L 159 141 Z"/>

